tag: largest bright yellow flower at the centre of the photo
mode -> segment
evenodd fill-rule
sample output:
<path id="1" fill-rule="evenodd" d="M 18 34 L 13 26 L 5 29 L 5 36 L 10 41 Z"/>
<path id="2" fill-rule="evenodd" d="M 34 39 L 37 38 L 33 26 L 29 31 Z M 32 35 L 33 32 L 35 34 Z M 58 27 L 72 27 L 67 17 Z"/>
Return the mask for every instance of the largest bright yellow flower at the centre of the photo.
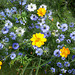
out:
<path id="1" fill-rule="evenodd" d="M 44 34 L 41 33 L 33 34 L 33 37 L 30 40 L 33 41 L 32 45 L 37 47 L 41 47 L 41 45 L 44 45 L 44 42 L 47 41 L 47 39 L 44 38 Z"/>

